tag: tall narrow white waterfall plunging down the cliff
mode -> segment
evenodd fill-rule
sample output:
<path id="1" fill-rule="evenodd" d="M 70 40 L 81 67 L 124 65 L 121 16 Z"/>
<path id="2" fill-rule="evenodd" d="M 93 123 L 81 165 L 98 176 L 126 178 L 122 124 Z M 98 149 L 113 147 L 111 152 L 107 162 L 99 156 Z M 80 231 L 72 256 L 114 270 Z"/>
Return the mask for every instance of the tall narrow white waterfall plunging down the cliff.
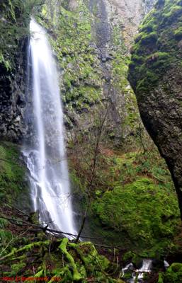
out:
<path id="1" fill-rule="evenodd" d="M 28 95 L 32 96 L 33 134 L 23 154 L 30 175 L 33 209 L 39 212 L 40 222 L 50 222 L 51 228 L 76 233 L 57 68 L 45 30 L 31 20 L 30 33 L 32 91 Z"/>

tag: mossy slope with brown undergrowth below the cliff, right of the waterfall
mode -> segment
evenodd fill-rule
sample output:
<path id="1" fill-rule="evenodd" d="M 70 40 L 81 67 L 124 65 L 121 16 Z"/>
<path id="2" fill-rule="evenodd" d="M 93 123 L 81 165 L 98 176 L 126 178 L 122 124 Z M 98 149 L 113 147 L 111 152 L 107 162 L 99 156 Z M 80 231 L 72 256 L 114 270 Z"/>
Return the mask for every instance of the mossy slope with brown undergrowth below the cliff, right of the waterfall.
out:
<path id="1" fill-rule="evenodd" d="M 80 149 L 79 149 L 80 150 Z M 76 194 L 86 200 L 91 156 L 82 149 L 72 158 Z M 90 196 L 90 195 L 89 195 Z M 100 147 L 91 188 L 91 233 L 142 257 L 163 258 L 176 248 L 180 214 L 171 175 L 157 149 L 123 153 Z"/>

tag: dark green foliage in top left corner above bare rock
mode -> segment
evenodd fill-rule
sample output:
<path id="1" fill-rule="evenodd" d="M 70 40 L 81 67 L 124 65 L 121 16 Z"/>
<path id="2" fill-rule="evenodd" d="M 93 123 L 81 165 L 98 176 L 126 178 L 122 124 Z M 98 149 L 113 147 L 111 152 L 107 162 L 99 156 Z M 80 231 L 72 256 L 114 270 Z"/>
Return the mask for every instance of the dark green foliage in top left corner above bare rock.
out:
<path id="1" fill-rule="evenodd" d="M 29 35 L 30 14 L 40 6 L 40 0 L 1 1 L 0 64 L 6 71 L 15 67 L 20 40 Z"/>

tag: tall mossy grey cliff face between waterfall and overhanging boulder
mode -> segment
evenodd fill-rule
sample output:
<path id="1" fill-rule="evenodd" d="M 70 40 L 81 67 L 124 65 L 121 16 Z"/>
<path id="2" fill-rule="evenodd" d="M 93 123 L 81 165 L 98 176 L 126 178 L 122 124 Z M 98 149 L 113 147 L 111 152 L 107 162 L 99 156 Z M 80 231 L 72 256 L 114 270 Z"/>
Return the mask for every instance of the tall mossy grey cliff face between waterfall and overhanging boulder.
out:
<path id="1" fill-rule="evenodd" d="M 62 69 L 67 129 L 74 132 L 77 127 L 93 127 L 94 113 L 105 103 L 108 137 L 115 144 L 130 139 L 140 117 L 127 81 L 128 46 L 144 16 L 143 1 L 135 0 L 135 5 L 112 0 L 58 2 L 55 15 L 59 18 L 51 16 L 47 2 L 39 21 L 50 30 L 50 42 Z"/>

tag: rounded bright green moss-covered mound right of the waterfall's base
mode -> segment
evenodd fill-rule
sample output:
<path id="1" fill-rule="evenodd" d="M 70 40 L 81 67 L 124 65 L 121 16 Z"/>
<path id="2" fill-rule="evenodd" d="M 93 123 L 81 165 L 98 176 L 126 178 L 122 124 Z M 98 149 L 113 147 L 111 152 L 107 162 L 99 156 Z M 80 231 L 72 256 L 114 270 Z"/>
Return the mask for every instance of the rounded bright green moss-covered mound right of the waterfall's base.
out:
<path id="1" fill-rule="evenodd" d="M 178 221 L 172 220 L 178 211 L 173 192 L 166 192 L 149 178 L 115 185 L 94 202 L 93 209 L 103 226 L 120 233 L 125 243 L 135 243 L 136 250 L 153 250 L 152 256 L 169 245 L 178 226 Z"/>

